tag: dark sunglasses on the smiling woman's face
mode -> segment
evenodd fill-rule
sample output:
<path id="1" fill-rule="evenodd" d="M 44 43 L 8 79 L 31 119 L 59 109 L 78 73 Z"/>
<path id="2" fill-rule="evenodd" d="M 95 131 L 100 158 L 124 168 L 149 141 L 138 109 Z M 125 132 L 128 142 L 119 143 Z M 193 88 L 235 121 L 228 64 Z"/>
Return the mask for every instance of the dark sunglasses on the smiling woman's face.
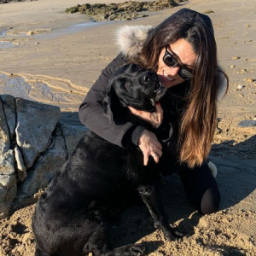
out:
<path id="1" fill-rule="evenodd" d="M 191 73 L 191 68 L 189 70 L 189 67 L 185 67 L 186 65 L 183 64 L 179 64 L 177 63 L 177 61 L 174 59 L 172 53 L 170 51 L 168 51 L 167 49 L 167 45 L 166 45 L 166 53 L 163 56 L 163 61 L 166 64 L 166 66 L 168 67 L 179 67 L 178 69 L 178 75 L 181 79 L 184 80 L 189 80 L 193 77 L 193 74 Z"/>

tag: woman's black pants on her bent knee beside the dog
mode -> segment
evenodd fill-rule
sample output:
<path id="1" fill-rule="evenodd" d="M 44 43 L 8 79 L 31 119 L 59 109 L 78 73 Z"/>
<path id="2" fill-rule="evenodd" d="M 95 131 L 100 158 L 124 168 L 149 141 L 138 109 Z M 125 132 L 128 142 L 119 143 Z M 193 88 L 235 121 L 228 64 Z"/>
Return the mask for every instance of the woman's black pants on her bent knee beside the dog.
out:
<path id="1" fill-rule="evenodd" d="M 168 175 L 172 172 L 179 174 L 183 188 L 196 210 L 201 214 L 217 212 L 220 194 L 207 162 L 190 169 L 186 165 L 177 164 L 177 161 L 170 155 L 163 156 L 160 160 L 161 173 L 163 175 Z"/>

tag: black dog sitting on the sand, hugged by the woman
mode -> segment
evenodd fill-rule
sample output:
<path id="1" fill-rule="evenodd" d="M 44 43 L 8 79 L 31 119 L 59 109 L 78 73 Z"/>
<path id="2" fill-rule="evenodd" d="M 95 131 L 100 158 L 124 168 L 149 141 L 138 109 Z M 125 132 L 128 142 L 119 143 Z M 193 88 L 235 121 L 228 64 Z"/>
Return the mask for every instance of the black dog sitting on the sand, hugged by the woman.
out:
<path id="1" fill-rule="evenodd" d="M 127 106 L 153 112 L 164 93 L 155 73 L 137 65 L 120 67 L 108 85 L 104 114 L 110 122 L 120 118 L 148 125 L 132 115 Z M 143 166 L 138 147 L 120 148 L 88 131 L 38 201 L 32 220 L 36 255 L 143 255 L 140 245 L 108 246 L 109 212 L 132 191 L 142 196 L 155 227 L 172 240 L 175 235 L 155 186 L 159 175 L 153 159 Z"/>

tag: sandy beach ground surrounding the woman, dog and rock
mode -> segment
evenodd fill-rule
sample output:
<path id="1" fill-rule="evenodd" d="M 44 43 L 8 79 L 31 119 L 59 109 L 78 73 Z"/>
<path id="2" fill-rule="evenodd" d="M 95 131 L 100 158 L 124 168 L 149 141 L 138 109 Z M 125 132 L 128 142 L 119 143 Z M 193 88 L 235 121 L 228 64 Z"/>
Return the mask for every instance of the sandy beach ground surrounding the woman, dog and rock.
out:
<path id="1" fill-rule="evenodd" d="M 102 68 L 118 53 L 114 45 L 117 27 L 155 26 L 182 8 L 165 9 L 142 20 L 73 26 L 89 20 L 84 15 L 64 13 L 77 3 L 39 0 L 0 5 L 0 27 L 6 33 L 0 37 L 1 94 L 23 96 L 58 105 L 62 111 L 76 112 Z M 147 255 L 253 256 L 256 127 L 238 124 L 256 117 L 256 3 L 194 0 L 183 3 L 183 7 L 209 12 L 218 43 L 218 59 L 230 76 L 229 93 L 218 110 L 221 132 L 216 134 L 211 154 L 211 160 L 218 166 L 221 209 L 202 217 L 189 204 L 180 180 L 173 176 L 163 182 L 162 198 L 170 224 L 183 232 L 183 239 L 164 241 L 162 233 L 154 230 L 147 209 L 134 206 L 113 226 L 112 241 L 115 246 L 143 242 Z M 30 31 L 37 33 L 26 35 Z M 243 85 L 241 90 L 237 90 L 238 85 Z M 37 197 L 0 221 L 0 255 L 33 255 L 32 202 Z"/>

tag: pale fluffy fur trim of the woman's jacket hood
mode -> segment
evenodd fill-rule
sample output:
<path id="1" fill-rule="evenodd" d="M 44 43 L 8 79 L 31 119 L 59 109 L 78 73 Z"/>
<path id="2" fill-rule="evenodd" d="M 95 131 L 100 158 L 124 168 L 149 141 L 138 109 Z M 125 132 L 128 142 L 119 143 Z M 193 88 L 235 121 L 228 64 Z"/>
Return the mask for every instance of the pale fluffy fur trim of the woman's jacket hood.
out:
<path id="1" fill-rule="evenodd" d="M 119 50 L 126 57 L 136 56 L 142 49 L 148 33 L 154 29 L 153 26 L 122 26 L 116 32 L 116 44 Z M 224 97 L 228 81 L 223 73 L 218 73 L 218 80 L 221 83 L 218 91 L 218 102 Z"/>

